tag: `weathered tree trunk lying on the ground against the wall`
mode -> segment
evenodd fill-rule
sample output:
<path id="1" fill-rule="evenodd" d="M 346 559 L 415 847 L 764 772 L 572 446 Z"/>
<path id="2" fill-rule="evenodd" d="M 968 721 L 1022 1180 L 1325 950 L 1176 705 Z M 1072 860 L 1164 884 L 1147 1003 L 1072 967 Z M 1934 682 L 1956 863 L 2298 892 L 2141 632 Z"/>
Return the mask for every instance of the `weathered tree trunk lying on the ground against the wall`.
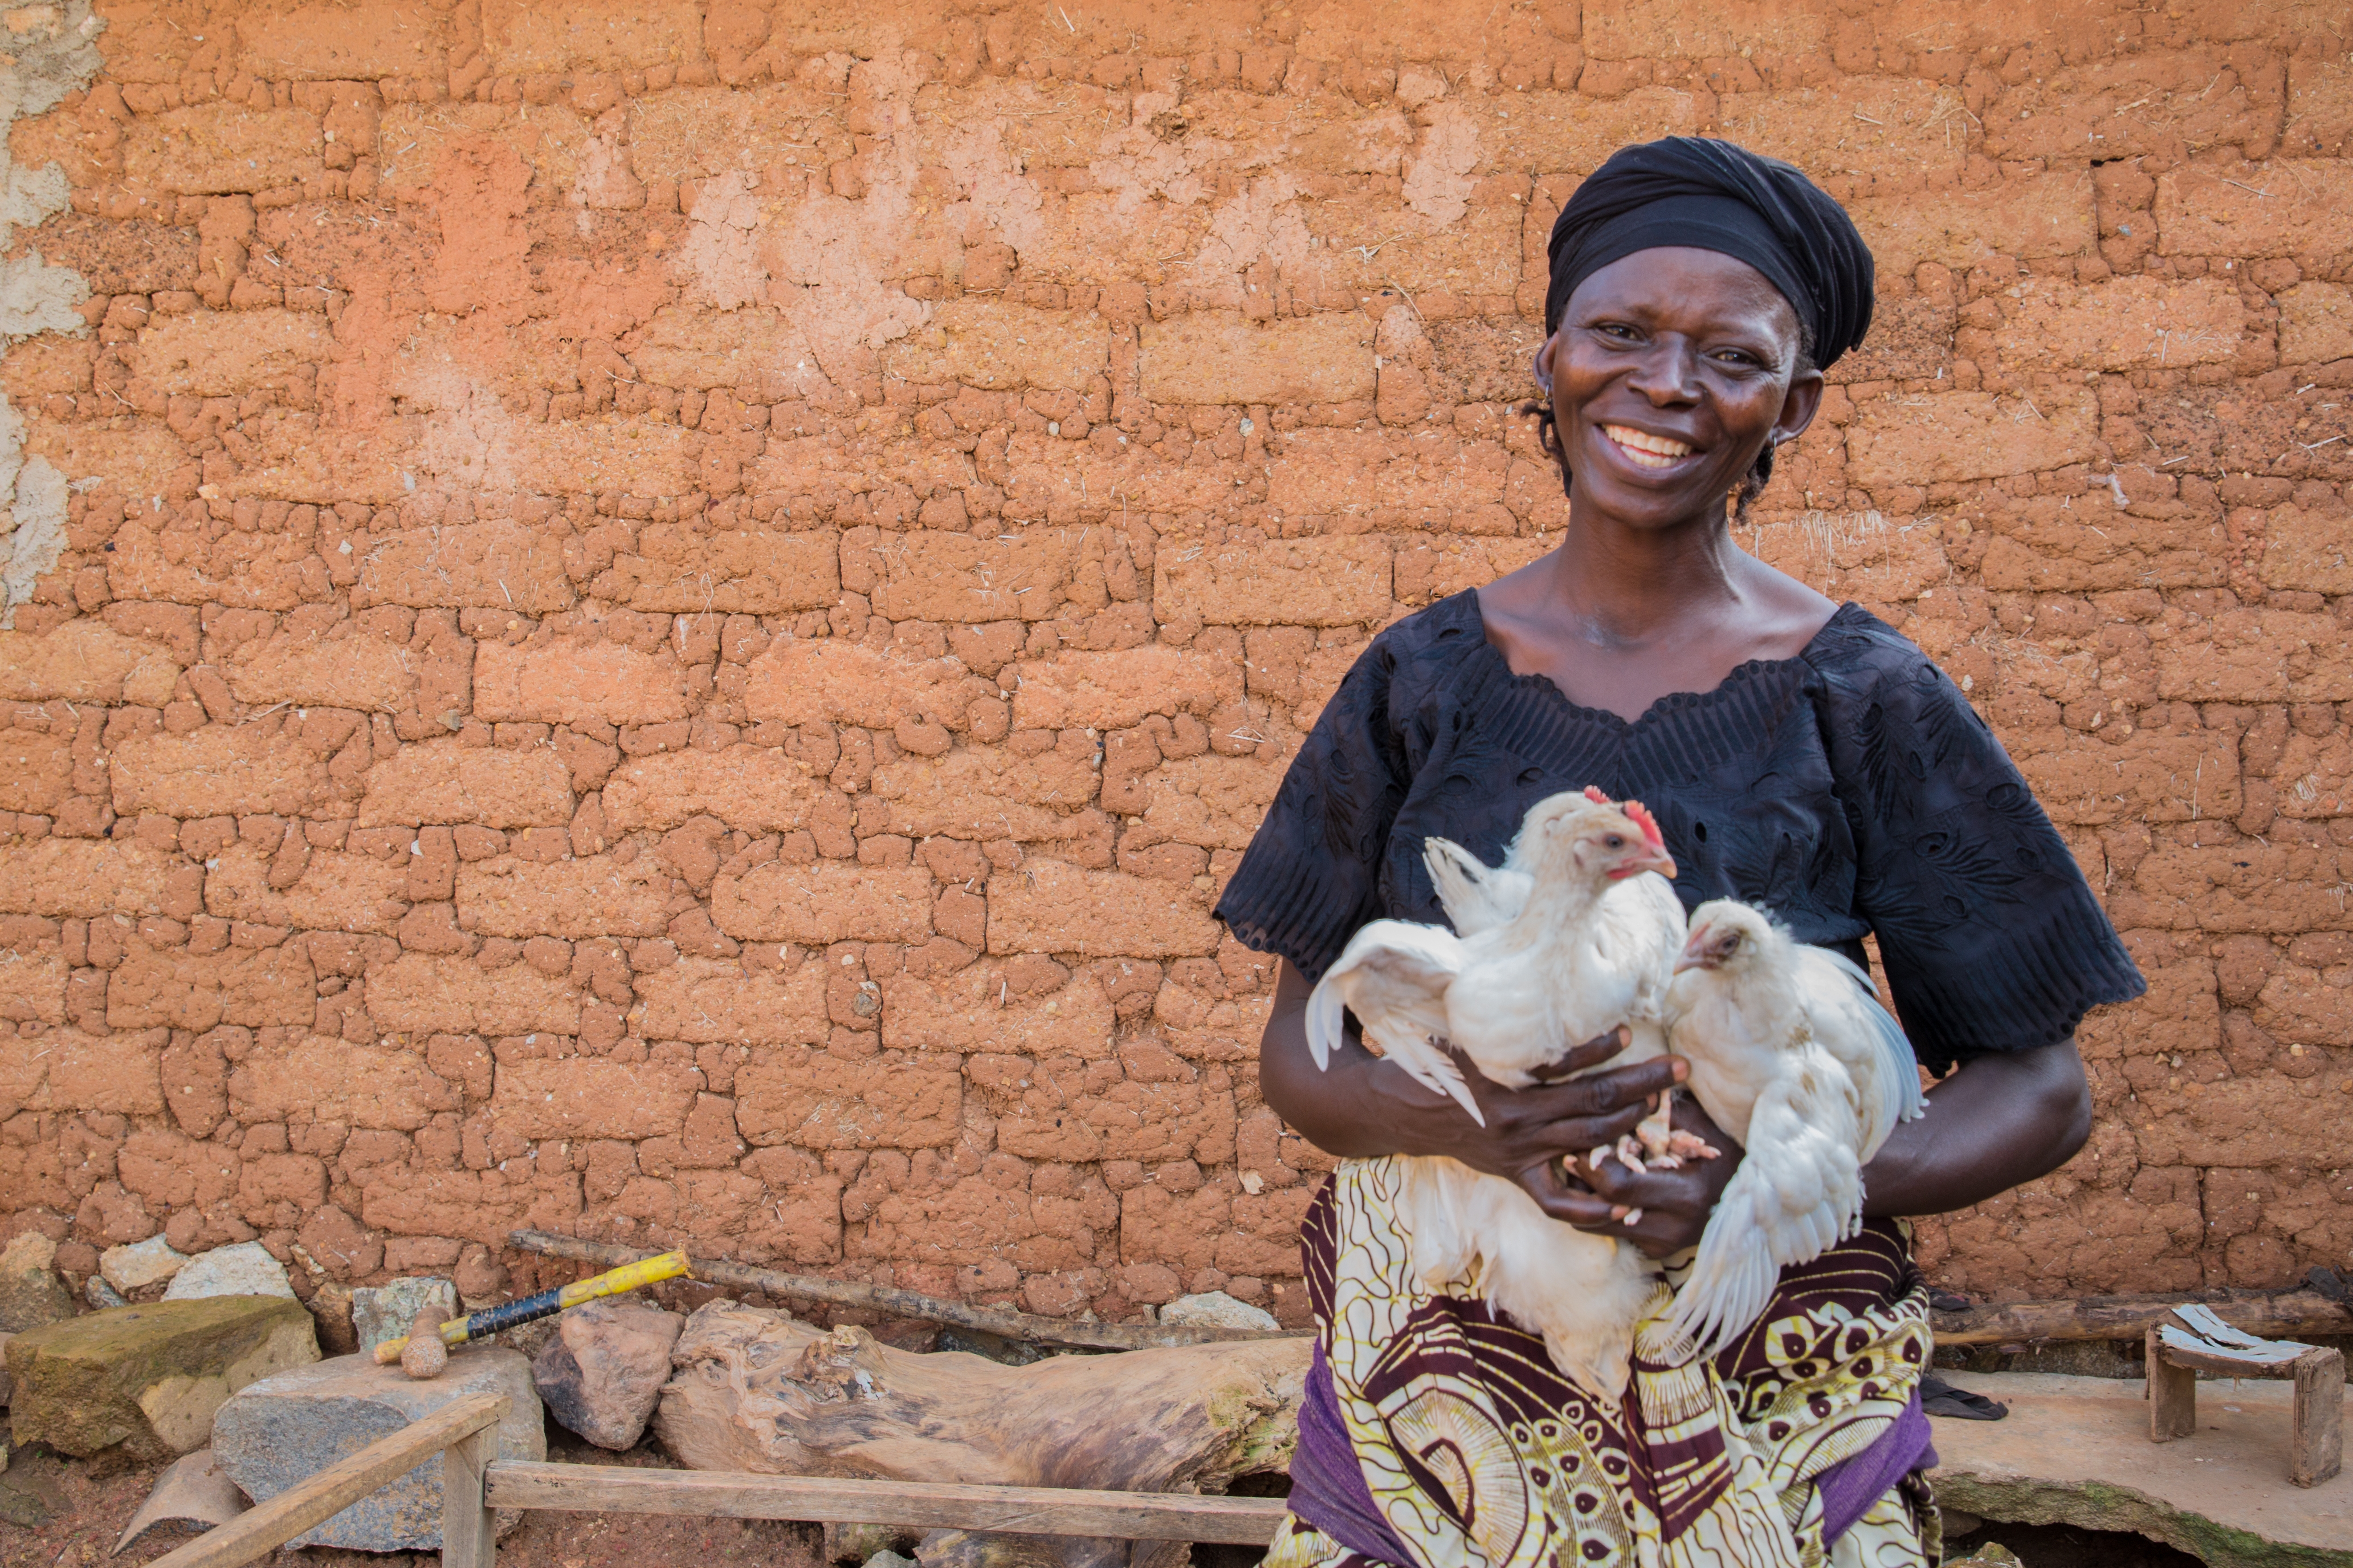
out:
<path id="1" fill-rule="evenodd" d="M 1224 1493 L 1233 1476 L 1289 1467 L 1308 1340 L 1000 1366 L 715 1300 L 687 1319 L 671 1368 L 654 1429 L 694 1469 Z M 925 1561 L 1165 1568 L 1184 1554 L 1181 1542 L 939 1535 Z"/>

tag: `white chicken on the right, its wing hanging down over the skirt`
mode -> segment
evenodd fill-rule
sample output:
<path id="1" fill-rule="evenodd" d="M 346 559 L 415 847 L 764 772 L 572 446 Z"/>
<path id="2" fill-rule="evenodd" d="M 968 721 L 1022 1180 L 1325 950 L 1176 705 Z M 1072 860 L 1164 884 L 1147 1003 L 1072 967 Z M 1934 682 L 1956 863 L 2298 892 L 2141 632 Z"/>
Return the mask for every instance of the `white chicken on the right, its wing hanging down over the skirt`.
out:
<path id="1" fill-rule="evenodd" d="M 1715 1354 L 1765 1312 L 1784 1267 L 1861 1227 L 1864 1166 L 1927 1098 L 1871 976 L 1732 898 L 1692 910 L 1668 1044 L 1692 1063 L 1692 1095 L 1746 1147 L 1671 1312 Z"/>

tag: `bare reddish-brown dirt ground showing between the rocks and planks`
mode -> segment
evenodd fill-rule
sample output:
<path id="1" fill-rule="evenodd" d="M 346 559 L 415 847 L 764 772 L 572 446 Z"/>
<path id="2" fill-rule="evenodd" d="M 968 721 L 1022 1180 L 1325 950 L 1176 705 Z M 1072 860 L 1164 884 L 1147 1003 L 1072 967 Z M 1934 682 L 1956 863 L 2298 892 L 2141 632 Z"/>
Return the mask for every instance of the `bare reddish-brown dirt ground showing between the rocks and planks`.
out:
<path id="1" fill-rule="evenodd" d="M 548 1422 L 548 1458 L 581 1465 L 668 1465 L 654 1443 L 631 1453 L 605 1453 Z M 153 1563 L 191 1540 L 179 1526 L 158 1526 L 120 1559 L 108 1559 L 115 1535 L 148 1495 L 160 1465 L 106 1467 L 66 1460 L 47 1448 L 19 1450 L 0 1476 L 0 1568 L 96 1568 L 99 1563 Z M 26 1505 L 40 1509 L 40 1523 Z M 2198 1559 L 2139 1535 L 2104 1535 L 2068 1526 L 1988 1523 L 1960 1542 L 1951 1556 L 2000 1542 L 2026 1568 L 2198 1568 Z M 435 1568 L 431 1552 L 275 1552 L 278 1568 Z M 1195 1563 L 1242 1568 L 1247 1554 L 1221 1547 L 1195 1552 Z M 527 1514 L 499 1542 L 499 1568 L 821 1568 L 819 1530 L 802 1523 L 751 1519 L 652 1519 L 612 1514 Z"/>

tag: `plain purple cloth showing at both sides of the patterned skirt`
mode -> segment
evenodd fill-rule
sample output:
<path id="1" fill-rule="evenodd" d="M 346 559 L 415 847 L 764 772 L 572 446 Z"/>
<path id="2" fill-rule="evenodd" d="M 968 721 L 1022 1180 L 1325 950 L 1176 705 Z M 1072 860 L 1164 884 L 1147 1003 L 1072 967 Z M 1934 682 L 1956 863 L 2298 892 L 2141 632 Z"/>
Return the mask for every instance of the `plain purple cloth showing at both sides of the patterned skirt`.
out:
<path id="1" fill-rule="evenodd" d="M 1821 1544 L 1828 1547 L 1854 1528 L 1854 1521 L 1885 1497 L 1906 1472 L 1934 1462 L 1927 1413 L 1920 1408 L 1920 1394 L 1913 1394 L 1894 1425 L 1880 1432 L 1868 1448 L 1814 1476 L 1814 1490 L 1821 1495 Z M 1320 1342 L 1308 1361 L 1306 1394 L 1299 1401 L 1299 1453 L 1292 1455 L 1289 1509 L 1358 1556 L 1400 1568 L 1414 1566 L 1412 1552 L 1388 1528 L 1372 1500 L 1372 1488 L 1365 1486 L 1365 1467 L 1358 1462 L 1348 1427 L 1341 1422 L 1339 1389 L 1332 1387 L 1332 1366 L 1325 1361 Z"/>

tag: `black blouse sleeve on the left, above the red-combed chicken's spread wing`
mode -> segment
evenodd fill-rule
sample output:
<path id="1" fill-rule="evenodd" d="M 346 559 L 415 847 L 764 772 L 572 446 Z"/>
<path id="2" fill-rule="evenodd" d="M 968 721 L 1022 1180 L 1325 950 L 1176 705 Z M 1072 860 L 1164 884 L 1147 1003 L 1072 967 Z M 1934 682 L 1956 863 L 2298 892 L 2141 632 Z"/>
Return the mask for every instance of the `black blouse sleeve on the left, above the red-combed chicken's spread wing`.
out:
<path id="1" fill-rule="evenodd" d="M 1381 851 L 1407 788 L 1393 679 L 1395 651 L 1377 637 L 1325 703 L 1217 903 L 1235 940 L 1282 954 L 1308 980 L 1381 914 Z"/>

